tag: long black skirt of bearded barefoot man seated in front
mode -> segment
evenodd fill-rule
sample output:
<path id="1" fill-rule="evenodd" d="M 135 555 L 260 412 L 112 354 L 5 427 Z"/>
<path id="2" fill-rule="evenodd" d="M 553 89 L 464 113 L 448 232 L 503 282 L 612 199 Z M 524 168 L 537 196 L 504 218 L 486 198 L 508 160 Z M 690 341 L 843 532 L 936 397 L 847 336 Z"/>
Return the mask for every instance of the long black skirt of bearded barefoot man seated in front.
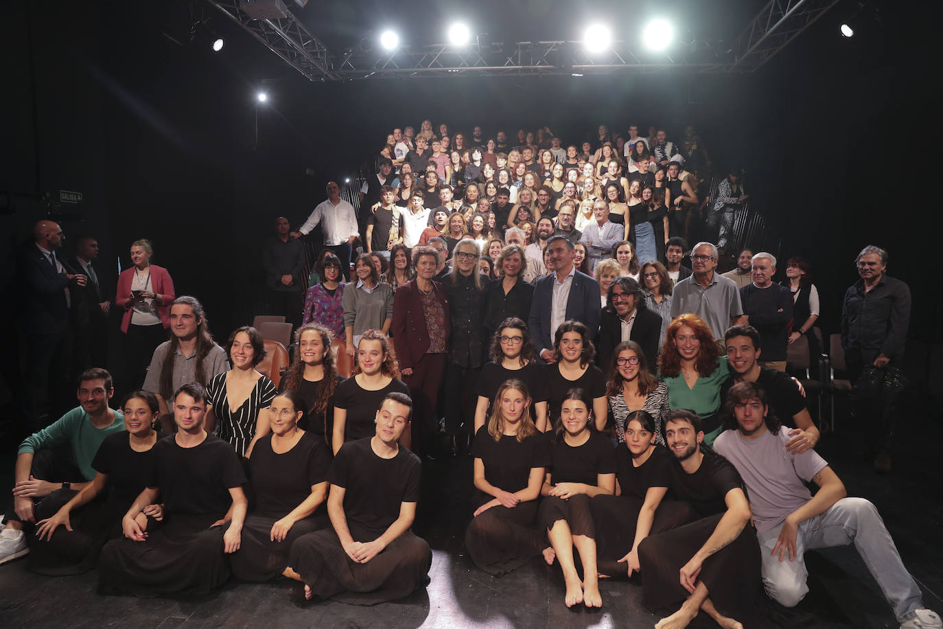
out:
<path id="1" fill-rule="evenodd" d="M 653 612 L 673 611 L 687 599 L 690 593 L 681 585 L 681 569 L 714 533 L 722 515 L 642 540 L 638 545 L 642 604 Z M 751 626 L 760 586 L 760 549 L 753 525 L 744 526 L 734 541 L 704 560 L 698 581 L 721 614 Z"/>

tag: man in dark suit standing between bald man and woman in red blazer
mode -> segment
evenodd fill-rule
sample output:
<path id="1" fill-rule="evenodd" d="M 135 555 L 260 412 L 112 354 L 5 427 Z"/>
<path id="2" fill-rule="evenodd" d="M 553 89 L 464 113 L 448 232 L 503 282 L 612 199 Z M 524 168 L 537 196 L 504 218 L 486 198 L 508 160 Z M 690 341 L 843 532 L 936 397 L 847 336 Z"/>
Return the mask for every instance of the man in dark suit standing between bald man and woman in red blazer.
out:
<path id="1" fill-rule="evenodd" d="M 92 266 L 98 257 L 98 240 L 91 236 L 80 236 L 75 244 L 75 257 L 69 260 L 69 266 L 75 273 L 82 273 L 88 278 L 85 286 L 77 283 L 70 286 L 72 307 L 73 375 L 74 379 L 87 369 L 104 369 L 108 361 L 108 301 L 101 278 Z"/>

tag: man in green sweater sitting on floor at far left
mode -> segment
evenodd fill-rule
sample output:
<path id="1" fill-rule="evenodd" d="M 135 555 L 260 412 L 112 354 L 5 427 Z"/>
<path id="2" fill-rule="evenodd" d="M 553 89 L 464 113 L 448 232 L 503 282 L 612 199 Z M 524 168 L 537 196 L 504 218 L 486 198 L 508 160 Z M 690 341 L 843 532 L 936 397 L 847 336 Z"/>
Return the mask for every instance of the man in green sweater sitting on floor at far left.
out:
<path id="1" fill-rule="evenodd" d="M 112 395 L 111 374 L 106 370 L 82 373 L 79 406 L 20 444 L 13 472 L 14 512 L 7 514 L 0 531 L 0 564 L 29 553 L 24 529 L 36 521 L 38 503 L 64 505 L 94 478 L 91 460 L 98 446 L 111 433 L 124 430 L 124 415 L 108 407 Z"/>

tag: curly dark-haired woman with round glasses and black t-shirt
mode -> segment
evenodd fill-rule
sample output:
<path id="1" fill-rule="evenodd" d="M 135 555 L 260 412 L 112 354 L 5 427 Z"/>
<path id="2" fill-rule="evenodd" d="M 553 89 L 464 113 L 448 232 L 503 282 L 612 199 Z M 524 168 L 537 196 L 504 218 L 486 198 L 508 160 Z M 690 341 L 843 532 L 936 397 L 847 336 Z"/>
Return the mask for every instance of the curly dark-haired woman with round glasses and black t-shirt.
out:
<path id="1" fill-rule="evenodd" d="M 531 419 L 540 432 L 547 430 L 547 370 L 537 362 L 534 342 L 527 323 L 517 317 L 508 317 L 495 330 L 491 340 L 491 361 L 486 363 L 475 386 L 478 404 L 474 411 L 474 431 L 485 425 L 495 395 L 505 380 L 522 380 L 531 392 Z"/>

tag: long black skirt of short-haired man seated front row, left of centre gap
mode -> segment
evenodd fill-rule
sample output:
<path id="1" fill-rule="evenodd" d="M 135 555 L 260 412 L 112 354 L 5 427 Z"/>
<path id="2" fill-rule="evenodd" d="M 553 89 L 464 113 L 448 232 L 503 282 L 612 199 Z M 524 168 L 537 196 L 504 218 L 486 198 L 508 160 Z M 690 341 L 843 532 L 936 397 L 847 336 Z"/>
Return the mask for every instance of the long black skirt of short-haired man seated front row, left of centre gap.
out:
<path id="1" fill-rule="evenodd" d="M 314 596 L 358 605 L 395 601 L 424 588 L 432 567 L 429 544 L 409 531 L 365 564 L 347 556 L 334 529 L 298 538 L 289 558 Z"/>

